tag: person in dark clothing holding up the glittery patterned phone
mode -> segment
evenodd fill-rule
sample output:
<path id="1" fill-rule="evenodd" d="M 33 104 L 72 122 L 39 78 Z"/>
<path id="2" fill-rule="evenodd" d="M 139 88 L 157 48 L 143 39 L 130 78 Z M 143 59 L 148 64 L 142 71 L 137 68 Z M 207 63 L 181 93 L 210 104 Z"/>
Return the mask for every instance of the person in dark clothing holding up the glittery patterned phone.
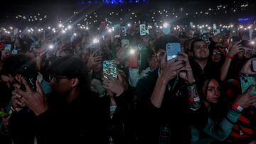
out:
<path id="1" fill-rule="evenodd" d="M 118 70 L 117 79 L 105 75 L 103 87 L 106 94 L 102 102 L 105 109 L 108 109 L 110 143 L 134 143 L 134 124 L 132 119 L 134 94 L 129 88 L 127 77 Z M 106 78 L 107 77 L 107 78 Z"/>

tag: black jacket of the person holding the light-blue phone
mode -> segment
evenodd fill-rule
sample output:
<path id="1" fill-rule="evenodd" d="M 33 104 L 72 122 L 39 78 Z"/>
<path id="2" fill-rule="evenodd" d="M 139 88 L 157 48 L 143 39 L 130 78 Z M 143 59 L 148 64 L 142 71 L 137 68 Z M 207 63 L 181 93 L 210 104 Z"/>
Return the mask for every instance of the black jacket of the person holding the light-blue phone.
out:
<path id="1" fill-rule="evenodd" d="M 162 128 L 167 127 L 171 134 L 169 143 L 190 143 L 191 124 L 203 128 L 207 122 L 207 110 L 201 104 L 197 111 L 191 111 L 188 92 L 184 82 L 179 79 L 174 88 L 166 87 L 161 108 L 151 104 L 150 97 L 158 78 L 158 69 L 137 83 L 137 109 L 139 113 L 139 143 L 159 143 L 163 140 Z M 169 82 L 171 87 L 174 79 Z"/>

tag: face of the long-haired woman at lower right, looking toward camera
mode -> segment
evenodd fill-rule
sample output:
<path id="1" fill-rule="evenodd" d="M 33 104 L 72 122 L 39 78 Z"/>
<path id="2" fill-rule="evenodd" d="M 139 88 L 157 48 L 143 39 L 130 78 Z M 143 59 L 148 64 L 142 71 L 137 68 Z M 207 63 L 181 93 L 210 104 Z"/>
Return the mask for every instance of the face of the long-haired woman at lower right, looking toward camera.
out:
<path id="1" fill-rule="evenodd" d="M 220 84 L 218 83 L 218 81 L 215 79 L 211 79 L 206 91 L 206 100 L 212 104 L 218 103 L 220 98 Z"/>

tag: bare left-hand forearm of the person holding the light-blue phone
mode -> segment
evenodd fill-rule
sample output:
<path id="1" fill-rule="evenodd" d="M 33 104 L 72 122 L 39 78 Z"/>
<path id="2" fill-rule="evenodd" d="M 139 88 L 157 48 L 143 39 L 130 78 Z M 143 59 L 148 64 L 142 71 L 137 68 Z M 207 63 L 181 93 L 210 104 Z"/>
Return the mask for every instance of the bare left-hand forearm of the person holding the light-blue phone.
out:
<path id="1" fill-rule="evenodd" d="M 150 97 L 151 103 L 156 106 L 156 108 L 160 108 L 162 101 L 164 99 L 164 93 L 166 90 L 166 80 L 159 77 L 156 81 L 156 86 L 154 87 L 154 91 Z"/>

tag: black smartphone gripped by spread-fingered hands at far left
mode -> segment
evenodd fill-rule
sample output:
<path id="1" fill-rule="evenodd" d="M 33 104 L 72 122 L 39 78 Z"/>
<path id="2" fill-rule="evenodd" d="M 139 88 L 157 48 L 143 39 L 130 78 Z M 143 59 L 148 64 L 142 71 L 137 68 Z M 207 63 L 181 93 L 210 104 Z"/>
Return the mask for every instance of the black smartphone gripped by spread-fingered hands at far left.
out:
<path id="1" fill-rule="evenodd" d="M 21 77 L 24 77 L 24 79 L 26 79 L 26 82 L 28 82 L 28 85 L 34 91 L 36 91 L 37 76 L 38 76 L 38 72 L 36 70 L 36 67 L 33 67 L 33 65 L 25 64 L 21 67 Z M 27 89 L 22 81 L 21 81 L 21 90 L 23 90 L 24 92 L 27 91 Z"/>

